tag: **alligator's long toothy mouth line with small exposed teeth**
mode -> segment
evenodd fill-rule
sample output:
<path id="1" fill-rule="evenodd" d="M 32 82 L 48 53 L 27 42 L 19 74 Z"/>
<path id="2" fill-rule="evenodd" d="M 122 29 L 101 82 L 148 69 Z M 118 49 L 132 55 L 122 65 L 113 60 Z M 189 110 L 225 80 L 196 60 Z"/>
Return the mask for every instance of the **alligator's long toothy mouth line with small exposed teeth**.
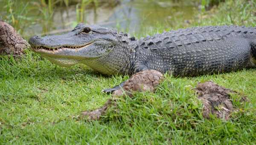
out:
<path id="1" fill-rule="evenodd" d="M 57 47 L 57 48 L 49 48 L 49 47 L 45 47 L 45 46 L 32 46 L 32 50 L 36 51 L 36 52 L 44 52 L 44 53 L 55 53 L 55 52 L 59 52 L 61 50 L 64 49 L 68 49 L 68 50 L 75 50 L 78 51 L 81 48 L 87 47 L 89 45 L 91 45 L 93 42 L 87 43 L 86 45 L 83 46 L 61 46 L 61 47 Z"/>

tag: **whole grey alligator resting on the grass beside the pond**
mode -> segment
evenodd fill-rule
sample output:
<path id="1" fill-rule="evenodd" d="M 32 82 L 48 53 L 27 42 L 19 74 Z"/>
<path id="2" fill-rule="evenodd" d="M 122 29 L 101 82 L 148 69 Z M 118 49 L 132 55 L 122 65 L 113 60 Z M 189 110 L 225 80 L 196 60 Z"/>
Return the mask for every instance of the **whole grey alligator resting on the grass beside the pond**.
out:
<path id="1" fill-rule="evenodd" d="M 136 39 L 112 28 L 80 23 L 65 34 L 32 36 L 29 44 L 55 64 L 83 63 L 105 75 L 157 70 L 183 77 L 256 67 L 255 27 L 194 27 Z"/>

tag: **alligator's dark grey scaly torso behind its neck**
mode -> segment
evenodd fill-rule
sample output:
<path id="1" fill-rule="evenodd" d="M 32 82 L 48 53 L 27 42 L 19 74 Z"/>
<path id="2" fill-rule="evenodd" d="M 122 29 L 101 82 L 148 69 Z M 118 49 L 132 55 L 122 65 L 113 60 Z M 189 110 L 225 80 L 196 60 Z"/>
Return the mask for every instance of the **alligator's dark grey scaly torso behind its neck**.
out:
<path id="1" fill-rule="evenodd" d="M 137 66 L 195 76 L 255 67 L 251 44 L 256 28 L 207 26 L 169 31 L 137 41 Z"/>

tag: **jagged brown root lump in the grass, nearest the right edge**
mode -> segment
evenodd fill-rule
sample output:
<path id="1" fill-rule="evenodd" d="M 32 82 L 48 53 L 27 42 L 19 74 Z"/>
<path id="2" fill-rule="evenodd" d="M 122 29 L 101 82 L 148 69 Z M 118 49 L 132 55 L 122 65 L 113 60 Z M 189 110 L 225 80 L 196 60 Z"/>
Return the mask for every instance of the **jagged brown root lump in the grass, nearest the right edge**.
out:
<path id="1" fill-rule="evenodd" d="M 211 81 L 199 83 L 195 90 L 198 94 L 198 99 L 204 104 L 203 116 L 205 118 L 209 118 L 210 114 L 215 114 L 218 118 L 229 119 L 231 112 L 234 110 L 230 95 L 239 93 L 218 86 Z M 246 96 L 241 98 L 241 101 L 247 100 Z"/>

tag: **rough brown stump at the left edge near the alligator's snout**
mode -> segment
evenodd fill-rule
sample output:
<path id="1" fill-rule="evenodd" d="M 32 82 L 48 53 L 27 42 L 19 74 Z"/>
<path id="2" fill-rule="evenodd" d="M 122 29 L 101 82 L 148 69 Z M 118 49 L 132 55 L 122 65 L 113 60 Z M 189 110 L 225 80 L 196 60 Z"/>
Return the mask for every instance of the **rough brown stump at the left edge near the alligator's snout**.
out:
<path id="1" fill-rule="evenodd" d="M 0 20 L 0 54 L 22 55 L 28 46 L 11 25 Z"/>

